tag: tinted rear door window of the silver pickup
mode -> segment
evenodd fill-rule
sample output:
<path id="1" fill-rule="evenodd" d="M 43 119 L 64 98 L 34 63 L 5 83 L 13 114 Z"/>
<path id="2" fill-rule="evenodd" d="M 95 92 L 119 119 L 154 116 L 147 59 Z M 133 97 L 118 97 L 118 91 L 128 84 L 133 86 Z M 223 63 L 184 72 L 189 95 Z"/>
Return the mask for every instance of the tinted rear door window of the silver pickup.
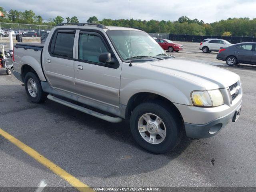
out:
<path id="1" fill-rule="evenodd" d="M 56 32 L 52 39 L 50 52 L 55 56 L 73 58 L 74 32 Z"/>

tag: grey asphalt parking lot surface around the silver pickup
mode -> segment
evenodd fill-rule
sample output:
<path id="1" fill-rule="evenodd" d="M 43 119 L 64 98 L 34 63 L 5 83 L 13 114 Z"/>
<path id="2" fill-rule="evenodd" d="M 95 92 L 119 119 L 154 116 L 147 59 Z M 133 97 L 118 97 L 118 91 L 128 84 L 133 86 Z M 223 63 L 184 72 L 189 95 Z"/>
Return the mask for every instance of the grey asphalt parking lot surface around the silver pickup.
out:
<path id="1" fill-rule="evenodd" d="M 256 186 L 256 66 L 228 67 L 216 52 L 180 42 L 175 57 L 237 73 L 242 113 L 218 135 L 182 139 L 168 154 L 140 148 L 128 122 L 112 124 L 61 104 L 31 103 L 21 82 L 0 70 L 0 128 L 88 186 Z M 0 136 L 0 186 L 70 186 Z"/>

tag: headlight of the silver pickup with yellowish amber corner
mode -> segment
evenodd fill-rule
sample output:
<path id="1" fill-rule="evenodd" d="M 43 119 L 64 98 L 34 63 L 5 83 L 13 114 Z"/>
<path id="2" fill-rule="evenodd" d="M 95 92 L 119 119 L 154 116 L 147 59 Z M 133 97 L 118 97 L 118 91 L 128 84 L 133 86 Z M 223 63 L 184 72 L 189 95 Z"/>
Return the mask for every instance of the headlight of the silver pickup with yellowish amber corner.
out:
<path id="1" fill-rule="evenodd" d="M 224 104 L 223 96 L 219 89 L 210 91 L 194 91 L 191 93 L 194 106 L 215 107 Z"/>

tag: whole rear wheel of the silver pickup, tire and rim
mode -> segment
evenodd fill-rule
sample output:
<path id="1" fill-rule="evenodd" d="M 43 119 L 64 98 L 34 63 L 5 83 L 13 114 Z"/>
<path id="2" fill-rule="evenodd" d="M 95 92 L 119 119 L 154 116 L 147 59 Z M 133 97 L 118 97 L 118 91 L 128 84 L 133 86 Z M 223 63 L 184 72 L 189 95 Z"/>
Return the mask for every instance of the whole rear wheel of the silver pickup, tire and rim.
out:
<path id="1" fill-rule="evenodd" d="M 28 72 L 24 78 L 25 89 L 28 97 L 34 103 L 42 103 L 47 99 L 47 94 L 42 90 L 39 78 L 33 72 Z"/>

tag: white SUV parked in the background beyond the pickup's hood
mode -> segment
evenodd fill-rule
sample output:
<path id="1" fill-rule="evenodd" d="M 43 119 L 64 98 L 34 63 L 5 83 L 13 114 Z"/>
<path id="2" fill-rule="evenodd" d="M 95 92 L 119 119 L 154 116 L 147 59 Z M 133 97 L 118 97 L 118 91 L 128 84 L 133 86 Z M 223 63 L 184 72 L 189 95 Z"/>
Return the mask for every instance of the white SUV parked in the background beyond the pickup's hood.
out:
<path id="1" fill-rule="evenodd" d="M 204 53 L 211 51 L 219 51 L 221 47 L 228 47 L 232 45 L 230 42 L 224 39 L 204 39 L 199 46 L 199 49 Z"/>

